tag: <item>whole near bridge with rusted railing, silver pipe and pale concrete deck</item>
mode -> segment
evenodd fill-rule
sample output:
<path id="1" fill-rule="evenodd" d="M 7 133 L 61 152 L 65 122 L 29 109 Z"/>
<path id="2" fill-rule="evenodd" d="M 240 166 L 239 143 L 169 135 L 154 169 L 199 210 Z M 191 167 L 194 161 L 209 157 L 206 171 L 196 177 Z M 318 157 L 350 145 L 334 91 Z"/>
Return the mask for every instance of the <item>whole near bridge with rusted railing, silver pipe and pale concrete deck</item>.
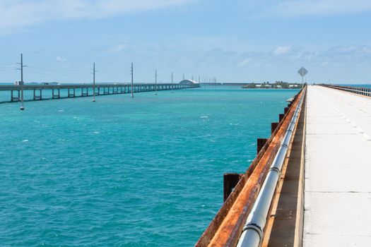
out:
<path id="1" fill-rule="evenodd" d="M 196 247 L 371 246 L 370 96 L 305 87 Z"/>

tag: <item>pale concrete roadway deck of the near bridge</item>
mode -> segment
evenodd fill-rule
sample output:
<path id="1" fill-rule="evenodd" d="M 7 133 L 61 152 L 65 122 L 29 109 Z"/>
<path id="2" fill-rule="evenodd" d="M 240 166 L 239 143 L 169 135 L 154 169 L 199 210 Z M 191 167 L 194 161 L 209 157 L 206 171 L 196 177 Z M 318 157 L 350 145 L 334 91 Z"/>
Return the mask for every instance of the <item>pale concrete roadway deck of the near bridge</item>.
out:
<path id="1" fill-rule="evenodd" d="M 307 91 L 303 246 L 370 246 L 371 100 Z"/>

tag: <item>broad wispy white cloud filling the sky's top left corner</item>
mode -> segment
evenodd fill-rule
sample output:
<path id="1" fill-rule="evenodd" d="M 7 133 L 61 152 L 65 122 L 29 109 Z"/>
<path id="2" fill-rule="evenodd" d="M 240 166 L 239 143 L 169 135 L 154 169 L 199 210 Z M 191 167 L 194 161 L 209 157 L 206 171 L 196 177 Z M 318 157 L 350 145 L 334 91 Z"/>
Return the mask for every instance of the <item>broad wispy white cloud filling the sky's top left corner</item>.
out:
<path id="1" fill-rule="evenodd" d="M 0 32 L 49 20 L 106 18 L 179 6 L 194 0 L 0 0 Z"/>

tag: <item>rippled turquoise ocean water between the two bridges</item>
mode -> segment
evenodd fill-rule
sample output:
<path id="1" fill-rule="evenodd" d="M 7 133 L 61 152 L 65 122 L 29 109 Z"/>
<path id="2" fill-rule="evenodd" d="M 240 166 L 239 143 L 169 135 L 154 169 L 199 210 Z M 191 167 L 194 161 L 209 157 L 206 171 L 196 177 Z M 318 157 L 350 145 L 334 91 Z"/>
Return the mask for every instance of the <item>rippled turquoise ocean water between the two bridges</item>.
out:
<path id="1" fill-rule="evenodd" d="M 0 246 L 193 246 L 296 92 L 0 104 Z"/>

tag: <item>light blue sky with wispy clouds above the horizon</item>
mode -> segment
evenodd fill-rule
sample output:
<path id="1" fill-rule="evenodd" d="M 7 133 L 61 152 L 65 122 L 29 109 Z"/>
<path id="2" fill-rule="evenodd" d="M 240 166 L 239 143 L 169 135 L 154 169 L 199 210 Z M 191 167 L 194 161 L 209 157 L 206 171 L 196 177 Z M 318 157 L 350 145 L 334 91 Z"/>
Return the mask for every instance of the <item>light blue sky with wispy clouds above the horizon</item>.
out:
<path id="1" fill-rule="evenodd" d="M 0 82 L 371 83 L 369 0 L 0 0 Z"/>

